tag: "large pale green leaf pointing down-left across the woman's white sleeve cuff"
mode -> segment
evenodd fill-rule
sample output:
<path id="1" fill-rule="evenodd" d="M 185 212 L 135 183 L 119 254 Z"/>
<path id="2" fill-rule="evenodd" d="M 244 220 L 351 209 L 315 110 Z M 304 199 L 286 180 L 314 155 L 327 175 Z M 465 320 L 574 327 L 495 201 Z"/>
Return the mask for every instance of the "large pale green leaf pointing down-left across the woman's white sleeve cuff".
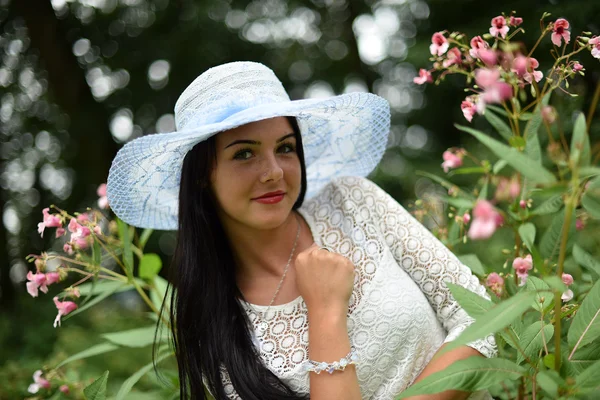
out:
<path id="1" fill-rule="evenodd" d="M 485 315 L 469 325 L 458 338 L 448 342 L 442 352 L 452 350 L 460 345 L 470 343 L 492 333 L 504 329 L 521 314 L 531 308 L 535 293 L 520 292 L 515 296 L 496 304 Z"/>

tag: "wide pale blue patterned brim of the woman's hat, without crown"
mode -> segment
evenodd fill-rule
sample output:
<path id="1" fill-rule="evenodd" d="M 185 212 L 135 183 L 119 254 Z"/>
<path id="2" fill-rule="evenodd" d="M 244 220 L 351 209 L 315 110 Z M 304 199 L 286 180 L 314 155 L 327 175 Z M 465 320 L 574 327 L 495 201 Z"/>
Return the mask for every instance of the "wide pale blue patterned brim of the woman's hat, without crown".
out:
<path id="1" fill-rule="evenodd" d="M 262 104 L 194 129 L 143 136 L 123 146 L 112 162 L 108 202 L 124 222 L 177 230 L 183 159 L 197 143 L 250 122 L 293 116 L 302 134 L 306 197 L 337 176 L 366 176 L 386 148 L 388 102 L 370 93 Z"/>

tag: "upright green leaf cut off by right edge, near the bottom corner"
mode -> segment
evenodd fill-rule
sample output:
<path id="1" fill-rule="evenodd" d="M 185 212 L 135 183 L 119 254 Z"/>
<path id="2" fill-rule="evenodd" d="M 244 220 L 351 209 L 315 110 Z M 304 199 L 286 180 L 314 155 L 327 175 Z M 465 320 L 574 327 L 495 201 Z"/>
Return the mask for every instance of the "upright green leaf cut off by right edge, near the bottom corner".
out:
<path id="1" fill-rule="evenodd" d="M 600 281 L 597 281 L 577 310 L 567 338 L 569 346 L 581 348 L 600 337 Z"/>

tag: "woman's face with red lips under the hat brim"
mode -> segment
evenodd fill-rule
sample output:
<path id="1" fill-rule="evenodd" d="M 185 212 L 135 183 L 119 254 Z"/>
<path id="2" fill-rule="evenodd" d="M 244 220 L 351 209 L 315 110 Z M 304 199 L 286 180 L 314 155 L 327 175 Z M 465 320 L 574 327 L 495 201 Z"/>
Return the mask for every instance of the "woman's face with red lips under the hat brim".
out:
<path id="1" fill-rule="evenodd" d="M 287 118 L 221 132 L 215 137 L 215 147 L 211 188 L 221 222 L 230 228 L 281 225 L 298 199 L 302 174 L 294 130 Z"/>

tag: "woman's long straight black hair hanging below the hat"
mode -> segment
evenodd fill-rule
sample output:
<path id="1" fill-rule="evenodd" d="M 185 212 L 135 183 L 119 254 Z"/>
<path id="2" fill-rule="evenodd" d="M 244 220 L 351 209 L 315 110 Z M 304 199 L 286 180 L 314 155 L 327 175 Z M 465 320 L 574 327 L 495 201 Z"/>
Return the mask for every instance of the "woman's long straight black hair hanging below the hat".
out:
<path id="1" fill-rule="evenodd" d="M 296 209 L 306 193 L 306 167 L 298 123 L 287 118 L 302 171 Z M 185 156 L 181 172 L 169 308 L 180 396 L 205 399 L 206 385 L 216 400 L 227 399 L 221 380 L 225 368 L 244 400 L 304 399 L 267 369 L 253 344 L 231 246 L 210 191 L 215 152 L 214 136 L 198 143 Z"/>

